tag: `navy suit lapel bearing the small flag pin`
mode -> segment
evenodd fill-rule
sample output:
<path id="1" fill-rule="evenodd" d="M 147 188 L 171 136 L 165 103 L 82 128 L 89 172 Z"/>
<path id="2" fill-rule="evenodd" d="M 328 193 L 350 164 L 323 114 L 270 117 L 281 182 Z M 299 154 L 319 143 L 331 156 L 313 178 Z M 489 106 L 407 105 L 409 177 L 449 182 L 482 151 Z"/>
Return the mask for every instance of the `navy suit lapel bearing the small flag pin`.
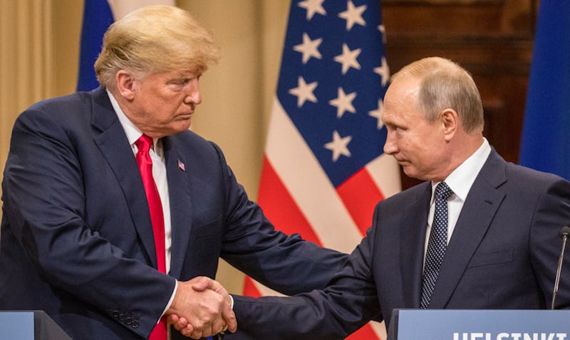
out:
<path id="1" fill-rule="evenodd" d="M 170 256 L 170 276 L 180 277 L 185 253 L 190 243 L 192 226 L 192 186 L 190 164 L 177 151 L 174 137 L 162 139 L 165 149 L 166 174 L 170 196 L 170 224 L 172 225 L 172 251 Z"/>

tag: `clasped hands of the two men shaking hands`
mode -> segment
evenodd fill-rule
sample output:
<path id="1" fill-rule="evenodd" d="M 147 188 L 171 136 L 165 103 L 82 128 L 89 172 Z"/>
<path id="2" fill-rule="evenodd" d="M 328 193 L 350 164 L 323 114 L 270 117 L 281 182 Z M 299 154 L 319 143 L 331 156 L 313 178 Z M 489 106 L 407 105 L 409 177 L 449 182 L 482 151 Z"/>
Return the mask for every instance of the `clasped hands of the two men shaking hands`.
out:
<path id="1" fill-rule="evenodd" d="M 219 282 L 209 277 L 179 281 L 165 315 L 167 324 L 172 324 L 182 335 L 192 339 L 237 330 L 232 298 Z"/>

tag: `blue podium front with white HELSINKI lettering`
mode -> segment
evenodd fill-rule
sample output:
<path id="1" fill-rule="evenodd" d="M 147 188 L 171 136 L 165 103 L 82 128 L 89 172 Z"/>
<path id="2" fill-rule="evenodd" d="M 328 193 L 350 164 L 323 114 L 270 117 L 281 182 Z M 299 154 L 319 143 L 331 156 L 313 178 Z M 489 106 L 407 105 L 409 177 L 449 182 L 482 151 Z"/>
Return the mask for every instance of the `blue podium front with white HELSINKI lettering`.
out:
<path id="1" fill-rule="evenodd" d="M 388 340 L 570 340 L 570 310 L 395 309 Z"/>

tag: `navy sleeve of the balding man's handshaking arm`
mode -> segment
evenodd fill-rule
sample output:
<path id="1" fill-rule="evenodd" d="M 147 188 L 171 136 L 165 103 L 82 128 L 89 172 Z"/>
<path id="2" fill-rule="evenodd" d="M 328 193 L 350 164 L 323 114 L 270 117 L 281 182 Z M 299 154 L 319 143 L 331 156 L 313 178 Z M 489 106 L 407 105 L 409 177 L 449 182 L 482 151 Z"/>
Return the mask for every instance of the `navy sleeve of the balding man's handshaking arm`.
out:
<path id="1" fill-rule="evenodd" d="M 371 272 L 373 230 L 324 290 L 294 297 L 234 297 L 238 331 L 228 339 L 344 339 L 381 320 Z"/>

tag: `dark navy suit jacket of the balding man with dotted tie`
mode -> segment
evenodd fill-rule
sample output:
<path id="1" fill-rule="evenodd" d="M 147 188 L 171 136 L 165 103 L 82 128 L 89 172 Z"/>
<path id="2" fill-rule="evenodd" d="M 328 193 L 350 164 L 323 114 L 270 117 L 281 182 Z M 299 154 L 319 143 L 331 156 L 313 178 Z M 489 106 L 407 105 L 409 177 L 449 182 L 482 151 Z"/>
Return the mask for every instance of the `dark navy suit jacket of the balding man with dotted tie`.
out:
<path id="1" fill-rule="evenodd" d="M 395 308 L 419 308 L 430 182 L 375 208 L 373 227 L 324 292 L 235 297 L 240 339 L 342 339 Z M 504 161 L 478 174 L 442 262 L 432 309 L 549 309 L 570 223 L 570 183 Z M 556 308 L 570 308 L 566 252 Z M 232 339 L 228 337 L 228 339 Z"/>

